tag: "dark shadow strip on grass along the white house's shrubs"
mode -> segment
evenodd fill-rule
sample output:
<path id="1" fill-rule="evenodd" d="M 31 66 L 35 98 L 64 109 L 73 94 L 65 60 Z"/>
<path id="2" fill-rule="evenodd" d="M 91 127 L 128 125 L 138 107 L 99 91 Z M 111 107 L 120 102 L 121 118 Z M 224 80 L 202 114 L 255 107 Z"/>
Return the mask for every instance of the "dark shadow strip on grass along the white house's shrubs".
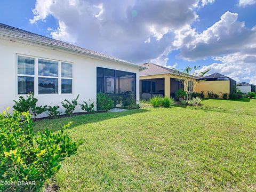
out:
<path id="1" fill-rule="evenodd" d="M 73 129 L 74 127 L 81 124 L 97 123 L 100 121 L 105 121 L 107 119 L 129 116 L 137 113 L 146 113 L 147 111 L 147 109 L 134 109 L 116 113 L 97 113 L 75 115 L 71 117 L 63 117 L 57 119 L 43 119 L 42 121 L 37 121 L 34 123 L 34 132 L 36 133 L 38 131 L 43 131 L 45 128 L 59 131 L 63 125 L 68 124 L 68 122 L 70 121 L 72 122 L 72 124 L 68 129 Z"/>

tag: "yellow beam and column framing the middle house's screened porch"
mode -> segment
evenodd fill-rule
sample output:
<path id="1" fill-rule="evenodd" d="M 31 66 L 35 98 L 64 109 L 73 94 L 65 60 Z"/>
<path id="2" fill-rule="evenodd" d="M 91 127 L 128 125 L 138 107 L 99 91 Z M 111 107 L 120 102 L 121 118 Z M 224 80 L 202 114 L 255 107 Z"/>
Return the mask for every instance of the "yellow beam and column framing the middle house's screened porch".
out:
<path id="1" fill-rule="evenodd" d="M 171 78 L 178 78 L 188 81 L 185 77 L 177 77 L 177 75 L 173 74 L 161 74 L 161 75 L 147 75 L 147 76 L 140 76 L 140 80 L 144 79 L 155 79 L 155 78 L 164 78 L 164 96 L 171 97 Z M 196 81 L 196 80 L 194 80 Z M 184 86 L 185 91 L 187 91 L 187 87 Z"/>

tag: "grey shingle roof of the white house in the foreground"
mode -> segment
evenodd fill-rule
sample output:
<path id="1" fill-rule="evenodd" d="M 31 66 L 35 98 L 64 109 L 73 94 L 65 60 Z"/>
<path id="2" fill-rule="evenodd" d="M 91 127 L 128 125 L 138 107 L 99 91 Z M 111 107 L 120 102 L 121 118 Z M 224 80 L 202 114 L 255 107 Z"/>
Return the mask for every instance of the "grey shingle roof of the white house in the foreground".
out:
<path id="1" fill-rule="evenodd" d="M 77 46 L 77 45 L 73 45 L 73 44 L 70 44 L 70 43 L 58 41 L 56 39 L 52 39 L 52 38 L 45 37 L 45 36 L 42 36 L 42 35 L 34 34 L 34 33 L 29 32 L 29 31 L 26 31 L 26 30 L 22 30 L 22 29 L 19 29 L 19 28 L 15 28 L 15 27 L 12 27 L 12 26 L 5 25 L 3 23 L 0 23 L 0 35 L 1 34 L 2 35 L 7 34 L 7 35 L 14 36 L 14 37 L 21 37 L 22 39 L 30 39 L 30 40 L 33 40 L 33 41 L 38 42 L 38 43 L 45 43 L 45 44 L 48 44 L 48 45 L 54 45 L 54 46 L 58 46 L 62 49 L 68 49 L 70 51 L 78 51 L 78 52 L 81 52 L 81 53 L 85 53 L 87 55 L 92 55 L 92 56 L 100 57 L 100 58 L 103 58 L 103 59 L 105 58 L 105 59 L 109 59 L 109 60 L 113 60 L 113 61 L 123 62 L 123 63 L 129 64 L 129 65 L 134 65 L 134 66 L 136 66 L 138 68 L 141 68 L 141 69 L 145 69 L 145 68 L 143 68 L 139 65 L 136 65 L 134 63 L 131 63 L 129 61 L 125 61 L 125 60 L 122 60 L 122 59 L 111 57 L 111 56 L 106 55 L 106 54 L 91 51 L 91 50 L 85 49 L 85 48 Z"/>

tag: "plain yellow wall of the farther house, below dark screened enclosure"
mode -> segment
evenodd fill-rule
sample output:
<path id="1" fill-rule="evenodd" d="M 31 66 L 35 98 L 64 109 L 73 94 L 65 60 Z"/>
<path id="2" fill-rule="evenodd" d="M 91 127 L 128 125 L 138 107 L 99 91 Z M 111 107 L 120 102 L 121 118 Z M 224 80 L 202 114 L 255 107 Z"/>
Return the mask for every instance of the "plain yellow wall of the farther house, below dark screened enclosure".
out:
<path id="1" fill-rule="evenodd" d="M 195 85 L 195 92 L 204 92 L 204 96 L 207 97 L 207 92 L 212 91 L 221 96 L 221 93 L 229 93 L 229 81 L 204 81 L 197 82 Z"/>

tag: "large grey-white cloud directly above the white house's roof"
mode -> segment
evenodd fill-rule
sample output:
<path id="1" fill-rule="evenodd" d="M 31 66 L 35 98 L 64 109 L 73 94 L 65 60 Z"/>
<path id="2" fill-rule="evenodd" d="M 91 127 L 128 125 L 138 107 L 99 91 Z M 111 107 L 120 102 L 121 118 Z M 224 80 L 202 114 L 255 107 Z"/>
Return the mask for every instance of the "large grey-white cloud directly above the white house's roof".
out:
<path id="1" fill-rule="evenodd" d="M 167 61 L 174 31 L 198 18 L 199 4 L 213 2 L 37 0 L 30 22 L 45 21 L 52 15 L 59 22 L 58 29 L 51 32 L 55 39 L 137 63 L 157 58 Z"/>

